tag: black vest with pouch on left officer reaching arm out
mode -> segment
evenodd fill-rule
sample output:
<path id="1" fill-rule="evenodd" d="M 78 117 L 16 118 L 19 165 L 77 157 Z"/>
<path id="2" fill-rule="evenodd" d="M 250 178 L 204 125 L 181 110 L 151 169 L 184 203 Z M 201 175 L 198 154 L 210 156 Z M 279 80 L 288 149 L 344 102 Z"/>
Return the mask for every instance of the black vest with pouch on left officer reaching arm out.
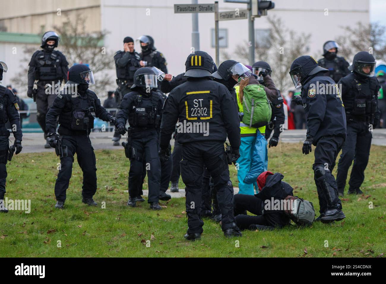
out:
<path id="1" fill-rule="evenodd" d="M 80 96 L 71 97 L 71 111 L 59 115 L 59 124 L 73 131 L 94 128 L 95 98 L 87 92 L 87 99 Z"/>

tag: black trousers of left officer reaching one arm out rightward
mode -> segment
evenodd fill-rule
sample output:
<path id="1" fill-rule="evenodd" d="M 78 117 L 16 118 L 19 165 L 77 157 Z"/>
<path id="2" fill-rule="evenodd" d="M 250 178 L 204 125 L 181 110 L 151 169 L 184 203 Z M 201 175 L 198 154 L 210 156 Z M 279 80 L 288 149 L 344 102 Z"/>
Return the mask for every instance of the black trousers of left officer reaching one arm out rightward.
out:
<path id="1" fill-rule="evenodd" d="M 91 198 L 97 192 L 97 167 L 94 148 L 87 134 L 63 135 L 62 147 L 67 146 L 67 156 L 60 158 L 58 178 L 55 183 L 55 196 L 58 201 L 66 200 L 66 191 L 71 179 L 74 155 L 83 172 L 82 196 Z"/>

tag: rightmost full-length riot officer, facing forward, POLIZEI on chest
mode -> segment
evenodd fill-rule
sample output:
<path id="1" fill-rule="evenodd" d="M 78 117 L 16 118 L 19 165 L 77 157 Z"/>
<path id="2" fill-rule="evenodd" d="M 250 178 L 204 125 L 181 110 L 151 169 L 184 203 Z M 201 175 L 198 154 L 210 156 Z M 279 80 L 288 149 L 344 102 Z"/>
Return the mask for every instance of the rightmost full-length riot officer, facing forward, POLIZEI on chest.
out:
<path id="1" fill-rule="evenodd" d="M 374 77 L 376 61 L 366 51 L 354 56 L 349 70 L 351 74 L 339 80 L 342 100 L 347 117 L 347 139 L 338 163 L 337 183 L 339 194 L 343 196 L 347 172 L 352 165 L 349 194 L 362 194 L 360 187 L 364 180 L 364 170 L 369 161 L 372 129 L 379 122 L 379 83 Z"/>

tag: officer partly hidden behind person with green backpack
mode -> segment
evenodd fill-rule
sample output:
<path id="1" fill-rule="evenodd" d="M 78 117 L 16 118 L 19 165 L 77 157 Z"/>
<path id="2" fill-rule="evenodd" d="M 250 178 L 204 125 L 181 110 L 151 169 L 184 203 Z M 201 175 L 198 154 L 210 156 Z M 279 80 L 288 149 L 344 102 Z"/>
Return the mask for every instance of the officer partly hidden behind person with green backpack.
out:
<path id="1" fill-rule="evenodd" d="M 257 61 L 252 65 L 252 74 L 254 74 L 254 76 L 257 75 L 257 80 L 263 86 L 267 85 L 266 83 L 267 79 L 264 80 L 264 78 L 266 78 L 267 75 L 271 76 L 271 73 L 272 73 L 271 66 L 269 66 L 269 64 L 265 61 Z M 277 97 L 271 101 L 272 116 L 271 116 L 271 121 L 268 122 L 266 131 L 265 131 L 265 138 L 267 140 L 269 139 L 269 137 L 271 137 L 271 134 L 273 131 L 273 135 L 271 139 L 269 139 L 268 148 L 278 146 L 279 136 L 280 136 L 280 133 L 283 132 L 283 125 L 285 121 L 283 97 L 281 96 L 280 91 L 279 90 L 277 91 L 278 91 Z"/>

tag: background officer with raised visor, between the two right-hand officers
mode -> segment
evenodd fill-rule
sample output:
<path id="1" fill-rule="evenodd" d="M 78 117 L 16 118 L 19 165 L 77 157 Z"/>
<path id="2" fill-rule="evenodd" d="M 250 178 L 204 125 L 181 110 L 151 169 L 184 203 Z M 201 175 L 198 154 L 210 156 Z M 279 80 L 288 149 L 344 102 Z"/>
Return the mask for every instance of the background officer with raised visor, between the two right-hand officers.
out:
<path id="1" fill-rule="evenodd" d="M 323 44 L 323 58 L 318 60 L 319 66 L 328 70 L 325 76 L 329 76 L 335 83 L 338 83 L 340 78 L 350 74 L 349 63 L 342 57 L 337 56 L 338 44 L 335 41 L 327 41 Z"/>

